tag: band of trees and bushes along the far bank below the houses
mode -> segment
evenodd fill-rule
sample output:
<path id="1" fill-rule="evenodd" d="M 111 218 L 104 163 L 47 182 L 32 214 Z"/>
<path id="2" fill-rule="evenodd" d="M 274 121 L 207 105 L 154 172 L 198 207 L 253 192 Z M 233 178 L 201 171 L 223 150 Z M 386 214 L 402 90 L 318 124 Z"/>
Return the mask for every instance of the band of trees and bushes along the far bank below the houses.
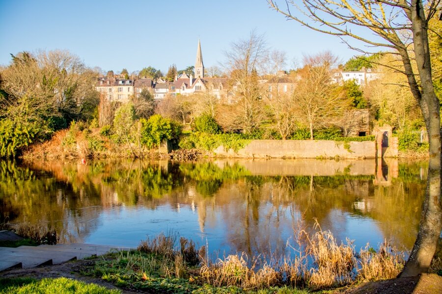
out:
<path id="1" fill-rule="evenodd" d="M 251 39 L 259 40 L 257 36 Z M 374 68 L 385 61 L 379 58 L 388 61 L 394 57 L 382 53 L 359 63 L 351 59 L 345 68 Z M 323 59 L 326 64 L 318 64 Z M 305 58 L 303 68 L 291 71 L 287 78 L 296 80 L 306 74 L 303 81 L 308 80 L 319 68 L 329 77 L 333 60 L 330 52 L 310 56 Z M 295 95 L 302 92 L 301 88 L 293 95 L 271 93 L 260 86 L 256 71 L 245 73 L 246 80 L 238 80 L 243 70 L 231 69 L 232 83 L 244 83 L 250 90 L 238 93 L 234 103 L 224 103 L 209 93 L 157 102 L 147 90 L 122 103 L 108 101 L 95 91 L 93 83 L 98 73 L 86 68 L 79 57 L 60 50 L 22 52 L 0 69 L 0 157 L 146 157 L 155 153 L 163 140 L 174 149 L 198 148 L 205 152 L 221 145 L 238 150 L 252 139 L 373 140 L 348 137 L 357 129 L 358 121 L 348 116 L 360 109 L 368 110 L 375 124 L 392 125 L 402 151 L 425 154 L 428 144 L 420 142 L 424 124 L 417 105 L 402 88 L 390 83 L 381 87 L 393 77 L 396 84 L 404 82 L 388 69 L 382 70 L 379 81 L 364 87 L 355 81 L 327 87 L 330 93 L 318 95 L 334 97 L 333 113 L 317 113 L 315 118 L 307 119 L 306 110 L 299 109 L 302 97 Z M 272 74 L 263 73 L 261 78 L 271 79 Z"/>

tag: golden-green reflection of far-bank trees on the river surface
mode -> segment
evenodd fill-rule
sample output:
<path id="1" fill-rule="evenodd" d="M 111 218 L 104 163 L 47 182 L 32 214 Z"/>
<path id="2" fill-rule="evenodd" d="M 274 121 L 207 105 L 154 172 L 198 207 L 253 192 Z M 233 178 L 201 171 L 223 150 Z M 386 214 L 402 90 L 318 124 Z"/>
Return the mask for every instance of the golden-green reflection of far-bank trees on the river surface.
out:
<path id="1" fill-rule="evenodd" d="M 201 232 L 223 223 L 233 248 L 266 253 L 282 252 L 301 216 L 302 225 L 312 227 L 316 218 L 323 229 L 340 231 L 345 212 L 378 221 L 395 245 L 410 248 L 423 201 L 419 172 L 400 165 L 403 179 L 384 187 L 374 186 L 373 176 L 252 176 L 235 162 L 2 162 L 0 217 L 49 223 L 76 241 L 111 207 L 166 204 L 173 210 L 180 203 L 197 210 Z"/>

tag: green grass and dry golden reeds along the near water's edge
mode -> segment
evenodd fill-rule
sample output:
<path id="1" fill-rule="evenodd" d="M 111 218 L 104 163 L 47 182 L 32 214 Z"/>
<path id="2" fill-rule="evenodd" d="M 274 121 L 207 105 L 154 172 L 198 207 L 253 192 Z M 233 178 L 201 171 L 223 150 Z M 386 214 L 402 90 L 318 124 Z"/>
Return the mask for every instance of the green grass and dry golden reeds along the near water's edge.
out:
<path id="1" fill-rule="evenodd" d="M 237 253 L 212 261 L 205 247 L 177 234 L 148 238 L 137 250 L 97 259 L 86 274 L 118 287 L 153 293 L 310 293 L 362 281 L 395 277 L 403 254 L 388 243 L 378 252 L 367 245 L 338 243 L 319 225 L 313 233 L 298 229 L 294 254 L 265 258 Z"/>

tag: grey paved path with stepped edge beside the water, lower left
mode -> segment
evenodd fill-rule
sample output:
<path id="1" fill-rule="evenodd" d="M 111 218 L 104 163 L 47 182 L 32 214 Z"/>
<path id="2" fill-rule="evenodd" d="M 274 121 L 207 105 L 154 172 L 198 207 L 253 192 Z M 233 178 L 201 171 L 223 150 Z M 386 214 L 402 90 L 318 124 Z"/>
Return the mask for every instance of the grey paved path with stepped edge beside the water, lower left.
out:
<path id="1" fill-rule="evenodd" d="M 0 247 L 0 271 L 11 268 L 34 268 L 55 265 L 69 260 L 103 255 L 110 251 L 133 249 L 121 246 L 92 244 L 57 244 L 39 246 Z"/>

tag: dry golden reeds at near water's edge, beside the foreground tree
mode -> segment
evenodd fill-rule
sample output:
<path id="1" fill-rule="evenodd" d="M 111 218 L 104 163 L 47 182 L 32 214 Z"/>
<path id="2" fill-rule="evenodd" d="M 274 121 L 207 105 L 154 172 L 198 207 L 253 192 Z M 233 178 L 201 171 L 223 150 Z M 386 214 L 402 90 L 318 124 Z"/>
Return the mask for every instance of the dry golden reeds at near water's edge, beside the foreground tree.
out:
<path id="1" fill-rule="evenodd" d="M 200 277 L 208 284 L 237 286 L 243 289 L 290 285 L 310 289 L 329 289 L 356 280 L 380 280 L 395 277 L 404 265 L 404 256 L 388 243 L 373 249 L 355 251 L 353 242 L 336 241 L 330 231 L 318 224 L 316 232 L 296 232 L 295 257 L 249 257 L 245 253 L 228 255 L 214 263 L 203 262 Z"/>

